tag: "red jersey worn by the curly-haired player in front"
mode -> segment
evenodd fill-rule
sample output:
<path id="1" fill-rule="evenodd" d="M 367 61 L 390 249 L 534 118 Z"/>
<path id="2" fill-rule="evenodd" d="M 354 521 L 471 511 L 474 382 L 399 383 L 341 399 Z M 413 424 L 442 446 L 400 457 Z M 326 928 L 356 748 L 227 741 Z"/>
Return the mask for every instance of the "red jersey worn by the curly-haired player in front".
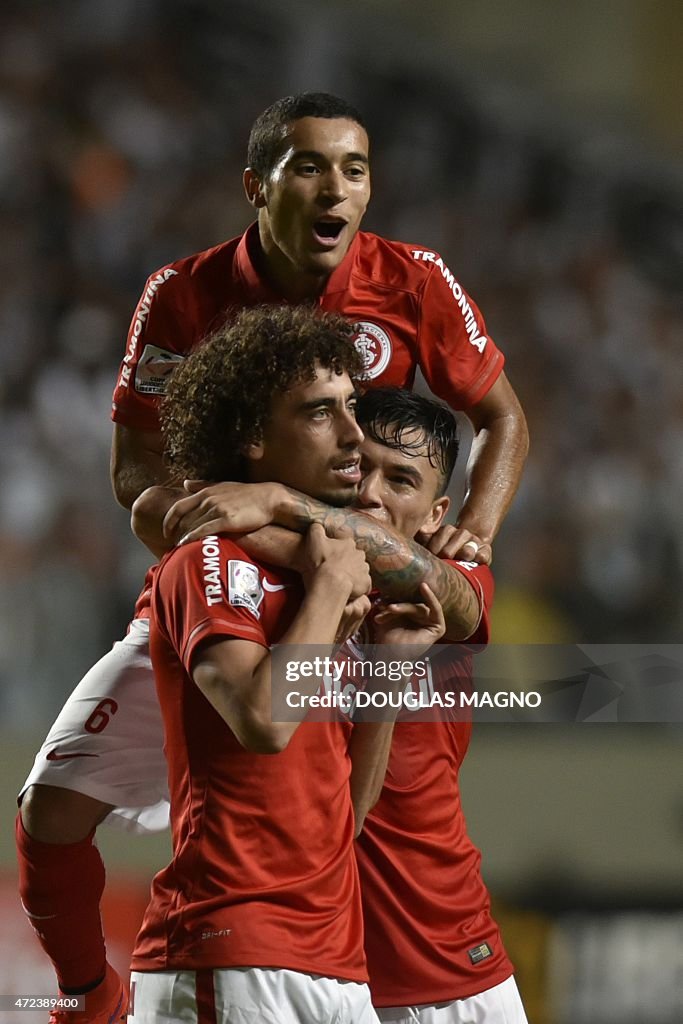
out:
<path id="1" fill-rule="evenodd" d="M 177 548 L 159 567 L 151 648 L 173 859 L 154 881 L 134 970 L 367 980 L 344 728 L 303 723 L 281 754 L 252 754 L 189 675 L 207 640 L 275 643 L 302 593 L 295 573 L 255 564 L 222 537 Z"/>

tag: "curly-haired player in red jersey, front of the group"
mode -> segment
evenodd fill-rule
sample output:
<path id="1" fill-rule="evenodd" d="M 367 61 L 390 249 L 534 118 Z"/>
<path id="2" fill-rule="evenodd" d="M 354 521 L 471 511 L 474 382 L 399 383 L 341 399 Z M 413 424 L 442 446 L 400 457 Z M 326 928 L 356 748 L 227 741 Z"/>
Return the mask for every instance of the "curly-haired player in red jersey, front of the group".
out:
<path id="1" fill-rule="evenodd" d="M 162 408 L 171 464 L 350 503 L 360 368 L 337 314 L 244 311 L 176 372 Z M 370 572 L 352 539 L 317 524 L 297 567 L 206 537 L 156 573 L 150 639 L 173 859 L 138 936 L 131 1022 L 247 1019 L 254 1008 L 290 1024 L 376 1021 L 345 731 L 270 714 L 272 645 L 332 652 L 347 605 L 358 605 L 358 622 L 370 608 Z M 309 680 L 311 692 L 318 685 Z"/>

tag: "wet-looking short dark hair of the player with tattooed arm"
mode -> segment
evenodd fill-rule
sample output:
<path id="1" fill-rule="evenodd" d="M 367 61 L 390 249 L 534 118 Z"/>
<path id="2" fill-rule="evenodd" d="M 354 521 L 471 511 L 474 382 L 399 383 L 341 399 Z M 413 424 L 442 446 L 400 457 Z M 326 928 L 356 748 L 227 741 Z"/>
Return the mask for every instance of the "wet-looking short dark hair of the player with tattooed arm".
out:
<path id="1" fill-rule="evenodd" d="M 458 421 L 446 406 L 404 388 L 380 387 L 360 395 L 355 416 L 366 437 L 378 444 L 416 454 L 426 447 L 443 494 L 460 446 Z"/>

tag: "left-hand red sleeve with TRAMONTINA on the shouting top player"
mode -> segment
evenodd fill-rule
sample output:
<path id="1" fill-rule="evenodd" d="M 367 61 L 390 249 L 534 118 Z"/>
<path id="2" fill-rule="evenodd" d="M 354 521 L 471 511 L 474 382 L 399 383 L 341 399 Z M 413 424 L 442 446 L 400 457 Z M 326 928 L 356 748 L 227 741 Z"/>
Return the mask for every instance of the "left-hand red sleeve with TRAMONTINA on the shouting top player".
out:
<path id="1" fill-rule="evenodd" d="M 112 419 L 123 426 L 159 429 L 160 396 L 193 340 L 179 312 L 180 281 L 173 266 L 163 267 L 147 279 L 135 307 L 112 400 Z"/>

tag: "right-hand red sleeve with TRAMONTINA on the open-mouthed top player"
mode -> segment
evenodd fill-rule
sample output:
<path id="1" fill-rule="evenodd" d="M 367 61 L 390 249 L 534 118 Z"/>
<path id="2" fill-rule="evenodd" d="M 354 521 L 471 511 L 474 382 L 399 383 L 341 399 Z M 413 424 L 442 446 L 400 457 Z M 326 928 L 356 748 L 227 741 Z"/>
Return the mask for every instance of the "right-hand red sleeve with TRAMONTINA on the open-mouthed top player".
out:
<path id="1" fill-rule="evenodd" d="M 476 304 L 440 256 L 421 252 L 420 258 L 431 263 L 420 305 L 420 368 L 434 394 L 452 409 L 469 409 L 496 382 L 505 359 Z"/>

